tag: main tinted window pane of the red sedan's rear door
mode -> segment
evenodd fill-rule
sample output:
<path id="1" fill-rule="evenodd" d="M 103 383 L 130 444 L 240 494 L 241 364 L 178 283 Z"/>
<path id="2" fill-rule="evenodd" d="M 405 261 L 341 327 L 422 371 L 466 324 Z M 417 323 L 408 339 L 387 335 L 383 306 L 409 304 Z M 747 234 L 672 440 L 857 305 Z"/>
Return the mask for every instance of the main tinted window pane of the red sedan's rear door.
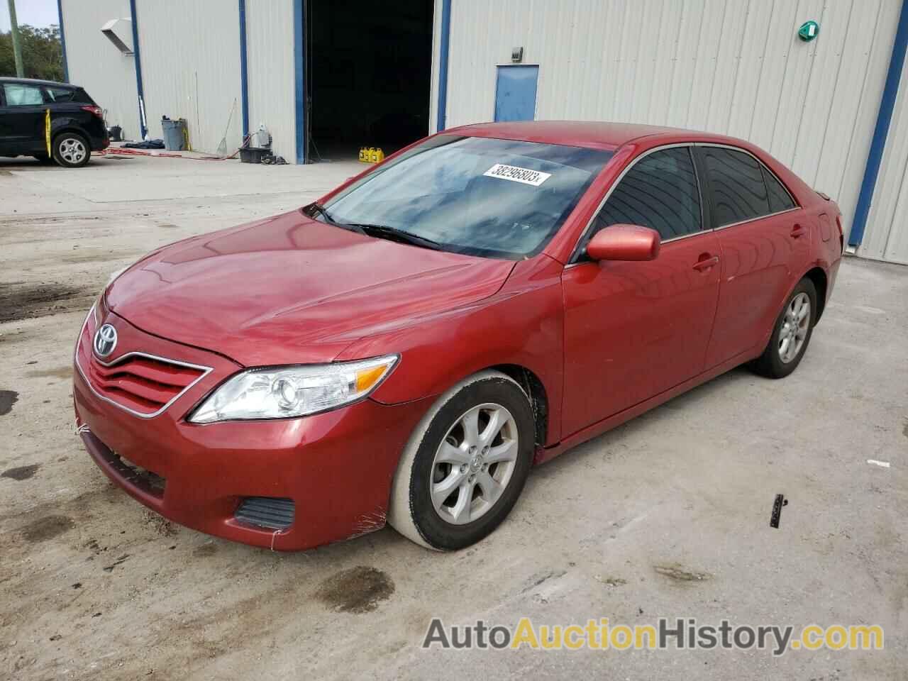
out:
<path id="1" fill-rule="evenodd" d="M 716 206 L 716 226 L 768 215 L 769 196 L 760 163 L 749 153 L 704 147 L 706 173 Z"/>

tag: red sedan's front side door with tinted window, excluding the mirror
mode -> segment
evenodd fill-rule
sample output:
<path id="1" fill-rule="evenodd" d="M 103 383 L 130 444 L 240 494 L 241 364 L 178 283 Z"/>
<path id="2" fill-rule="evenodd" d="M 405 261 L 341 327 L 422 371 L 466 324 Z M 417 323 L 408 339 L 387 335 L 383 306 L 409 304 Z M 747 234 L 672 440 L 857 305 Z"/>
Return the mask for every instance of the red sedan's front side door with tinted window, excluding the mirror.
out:
<path id="1" fill-rule="evenodd" d="M 650 262 L 578 262 L 565 299 L 563 435 L 626 410 L 704 370 L 716 314 L 719 245 L 708 229 L 691 152 L 657 149 L 610 193 L 588 239 L 608 225 L 651 227 Z"/>

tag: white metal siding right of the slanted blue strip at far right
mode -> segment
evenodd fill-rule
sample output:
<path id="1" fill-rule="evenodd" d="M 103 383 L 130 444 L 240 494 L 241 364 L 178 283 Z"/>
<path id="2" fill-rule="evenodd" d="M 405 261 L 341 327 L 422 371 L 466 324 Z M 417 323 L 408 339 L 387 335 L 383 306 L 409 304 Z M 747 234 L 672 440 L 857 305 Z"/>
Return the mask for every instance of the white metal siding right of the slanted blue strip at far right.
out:
<path id="1" fill-rule="evenodd" d="M 886 140 L 859 255 L 908 264 L 908 68 Z"/>

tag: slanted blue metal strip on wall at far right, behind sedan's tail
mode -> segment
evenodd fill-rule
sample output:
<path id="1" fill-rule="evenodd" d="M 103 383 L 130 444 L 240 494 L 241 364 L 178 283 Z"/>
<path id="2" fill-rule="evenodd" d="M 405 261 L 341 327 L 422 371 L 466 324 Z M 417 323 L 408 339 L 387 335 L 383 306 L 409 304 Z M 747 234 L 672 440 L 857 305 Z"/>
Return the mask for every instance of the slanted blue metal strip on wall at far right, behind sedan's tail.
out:
<path id="1" fill-rule="evenodd" d="M 867 154 L 867 165 L 864 167 L 864 181 L 861 183 L 861 193 L 858 195 L 857 207 L 854 209 L 852 229 L 848 234 L 849 246 L 860 246 L 864 239 L 867 216 L 870 214 L 870 205 L 873 202 L 873 190 L 876 188 L 876 178 L 880 174 L 889 124 L 892 123 L 895 99 L 899 94 L 899 81 L 902 79 L 906 46 L 908 46 L 908 0 L 902 0 L 902 14 L 899 15 L 899 25 L 895 30 L 893 55 L 889 60 L 889 73 L 886 74 L 880 111 L 876 114 L 876 127 L 873 129 L 873 142 L 870 143 L 870 153 Z"/>

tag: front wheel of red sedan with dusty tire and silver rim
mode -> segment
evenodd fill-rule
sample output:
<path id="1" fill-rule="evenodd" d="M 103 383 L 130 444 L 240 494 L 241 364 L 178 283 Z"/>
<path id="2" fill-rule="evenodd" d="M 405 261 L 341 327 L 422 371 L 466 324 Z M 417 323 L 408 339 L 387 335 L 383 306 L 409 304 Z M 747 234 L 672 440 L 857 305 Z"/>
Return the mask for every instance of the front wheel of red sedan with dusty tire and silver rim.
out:
<path id="1" fill-rule="evenodd" d="M 479 439 L 469 439 L 464 426 L 474 413 Z M 498 425 L 491 425 L 493 418 Z M 448 446 L 442 453 L 443 442 Z M 469 547 L 508 516 L 527 481 L 534 449 L 527 393 L 503 373 L 480 371 L 445 392 L 413 430 L 391 487 L 388 522 L 426 548 Z M 437 455 L 452 462 L 438 461 Z M 483 455 L 513 459 L 488 463 Z M 449 497 L 441 498 L 439 490 L 448 488 Z"/>

